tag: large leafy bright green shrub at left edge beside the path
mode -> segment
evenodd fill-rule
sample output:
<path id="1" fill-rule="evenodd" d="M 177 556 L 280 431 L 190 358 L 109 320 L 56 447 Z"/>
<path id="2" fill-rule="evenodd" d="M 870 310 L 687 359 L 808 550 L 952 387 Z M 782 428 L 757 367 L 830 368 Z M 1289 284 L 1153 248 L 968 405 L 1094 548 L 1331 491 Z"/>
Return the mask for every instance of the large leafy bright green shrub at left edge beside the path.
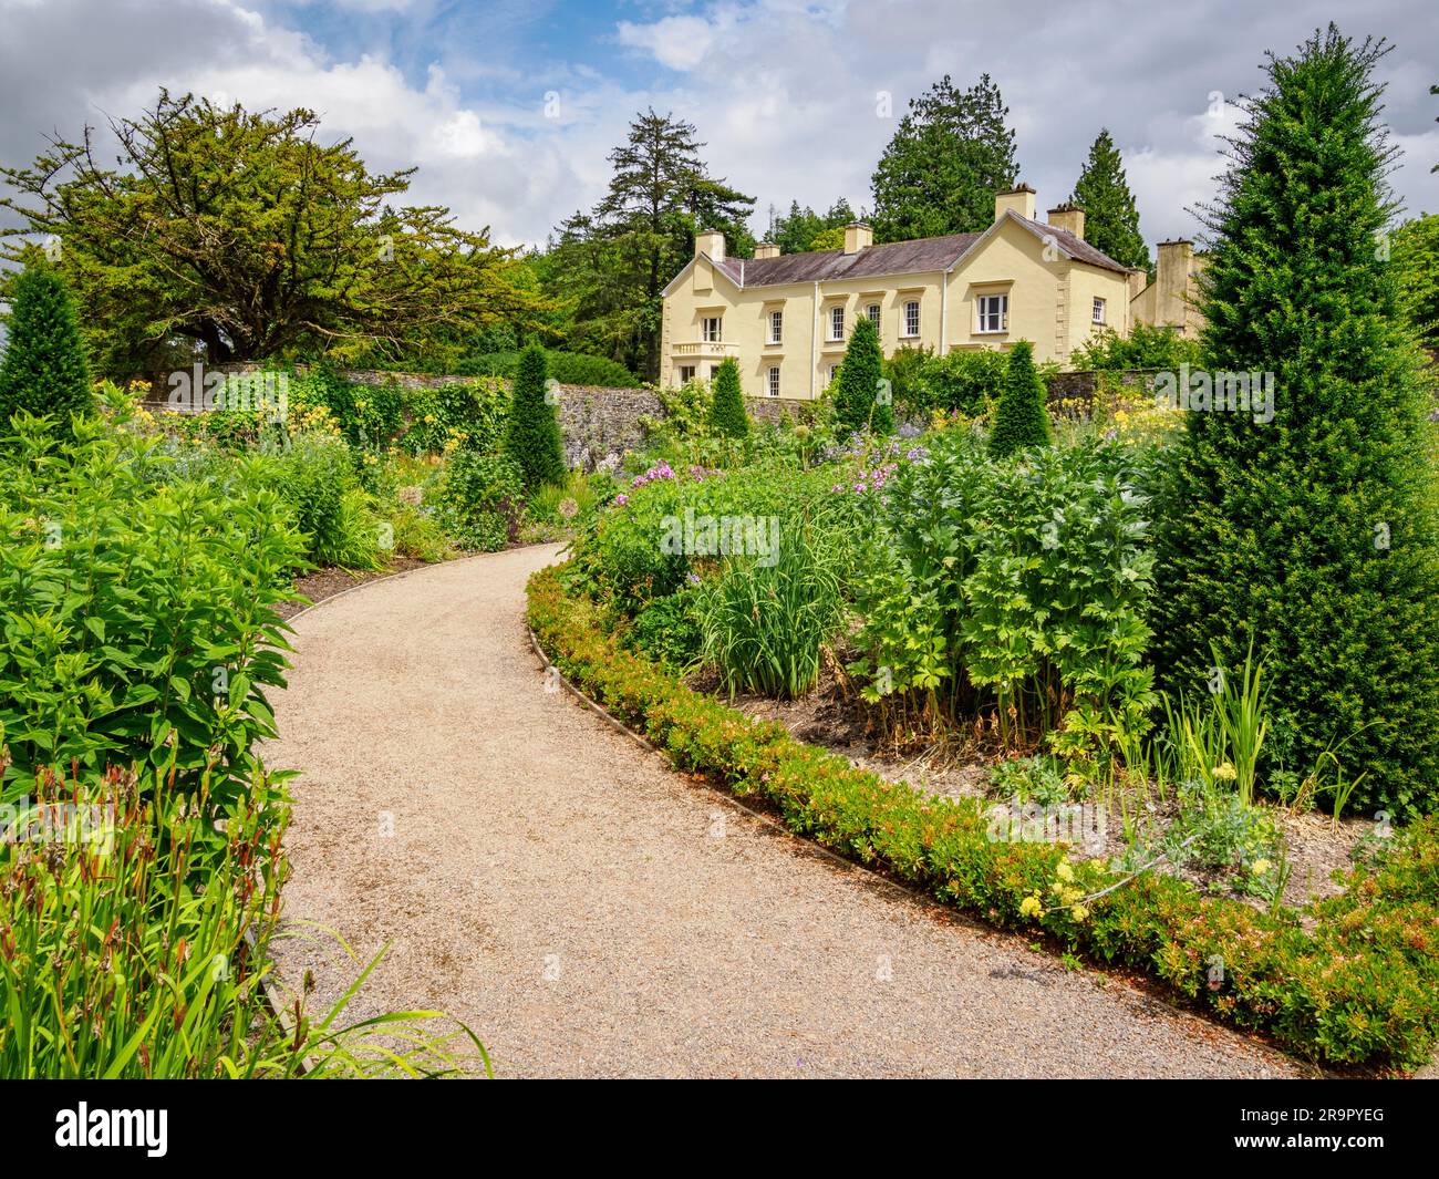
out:
<path id="1" fill-rule="evenodd" d="M 256 461 L 227 482 L 164 481 L 157 439 L 86 423 L 42 458 L 33 423 L 0 456 L 0 724 L 13 764 L 99 774 L 140 763 L 196 787 L 246 789 L 283 684 L 289 514 Z M 148 770 L 145 770 L 148 772 Z"/>

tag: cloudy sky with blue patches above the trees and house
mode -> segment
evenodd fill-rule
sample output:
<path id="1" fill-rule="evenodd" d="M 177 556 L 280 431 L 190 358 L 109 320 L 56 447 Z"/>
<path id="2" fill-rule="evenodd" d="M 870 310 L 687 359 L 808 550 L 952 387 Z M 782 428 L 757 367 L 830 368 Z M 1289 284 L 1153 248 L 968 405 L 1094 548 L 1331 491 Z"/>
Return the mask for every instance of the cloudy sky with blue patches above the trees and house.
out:
<path id="1" fill-rule="evenodd" d="M 158 88 L 249 108 L 308 107 L 376 171 L 419 166 L 412 203 L 499 245 L 543 243 L 609 180 L 635 112 L 694 122 L 714 176 L 768 207 L 871 206 L 909 98 L 948 73 L 999 83 L 1020 179 L 1068 197 L 1101 127 L 1153 245 L 1196 236 L 1227 104 L 1337 6 L 1304 0 L 0 0 L 0 161 L 46 135 L 137 115 Z M 1427 13 L 1427 14 L 1426 14 Z M 1345 33 L 1384 36 L 1386 117 L 1410 214 L 1439 212 L 1439 19 L 1367 0 Z"/>

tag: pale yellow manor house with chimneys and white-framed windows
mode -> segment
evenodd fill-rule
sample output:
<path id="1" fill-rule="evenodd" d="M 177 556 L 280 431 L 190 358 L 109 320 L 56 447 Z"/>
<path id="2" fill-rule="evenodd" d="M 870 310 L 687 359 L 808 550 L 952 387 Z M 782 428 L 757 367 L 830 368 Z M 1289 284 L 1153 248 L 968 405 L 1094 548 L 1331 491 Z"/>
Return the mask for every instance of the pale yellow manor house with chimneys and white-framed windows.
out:
<path id="1" fill-rule="evenodd" d="M 1061 204 L 1048 223 L 1035 220 L 1027 184 L 994 197 L 994 223 L 983 233 L 876 246 L 871 227 L 853 222 L 842 250 L 781 255 L 761 242 L 754 258 L 727 258 L 724 235 L 705 232 L 665 288 L 659 379 L 708 380 L 734 357 L 753 397 L 817 397 L 858 315 L 873 321 L 885 356 L 1030 340 L 1038 361 L 1068 364 L 1101 327 L 1120 335 L 1134 321 L 1196 330 L 1184 295 L 1197 261 L 1187 242 L 1166 242 L 1147 288 L 1144 271 L 1085 242 L 1084 210 Z"/>

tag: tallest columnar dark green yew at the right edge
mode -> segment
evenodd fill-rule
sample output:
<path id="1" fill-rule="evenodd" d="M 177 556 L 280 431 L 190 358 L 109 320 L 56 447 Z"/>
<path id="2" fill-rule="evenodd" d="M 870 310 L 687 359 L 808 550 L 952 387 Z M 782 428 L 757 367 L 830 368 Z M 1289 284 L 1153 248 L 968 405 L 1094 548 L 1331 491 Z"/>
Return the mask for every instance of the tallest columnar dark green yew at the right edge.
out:
<path id="1" fill-rule="evenodd" d="M 1381 249 L 1393 158 L 1383 42 L 1333 26 L 1245 104 L 1220 197 L 1203 345 L 1272 371 L 1274 420 L 1190 409 L 1158 521 L 1170 688 L 1269 661 L 1271 743 L 1307 773 L 1334 746 L 1353 808 L 1439 799 L 1439 521 L 1423 397 Z M 1327 762 L 1327 759 L 1324 759 Z"/>

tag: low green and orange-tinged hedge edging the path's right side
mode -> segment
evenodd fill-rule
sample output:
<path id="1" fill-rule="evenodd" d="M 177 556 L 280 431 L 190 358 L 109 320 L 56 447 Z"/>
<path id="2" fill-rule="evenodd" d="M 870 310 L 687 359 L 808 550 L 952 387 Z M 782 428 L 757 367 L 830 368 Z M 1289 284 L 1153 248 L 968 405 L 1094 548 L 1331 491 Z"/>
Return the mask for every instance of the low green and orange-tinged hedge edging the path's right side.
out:
<path id="1" fill-rule="evenodd" d="M 1122 880 L 1049 842 L 996 842 L 979 799 L 927 796 L 796 741 L 626 651 L 603 606 L 567 592 L 566 566 L 530 583 L 550 658 L 676 767 L 773 803 L 794 832 L 1002 929 L 1042 930 L 1094 960 L 1141 970 L 1186 1000 L 1325 1064 L 1407 1070 L 1439 1032 L 1439 821 L 1396 831 L 1374 868 L 1308 914 L 1261 913 L 1154 872 Z M 1222 979 L 1210 982 L 1216 959 Z"/>

